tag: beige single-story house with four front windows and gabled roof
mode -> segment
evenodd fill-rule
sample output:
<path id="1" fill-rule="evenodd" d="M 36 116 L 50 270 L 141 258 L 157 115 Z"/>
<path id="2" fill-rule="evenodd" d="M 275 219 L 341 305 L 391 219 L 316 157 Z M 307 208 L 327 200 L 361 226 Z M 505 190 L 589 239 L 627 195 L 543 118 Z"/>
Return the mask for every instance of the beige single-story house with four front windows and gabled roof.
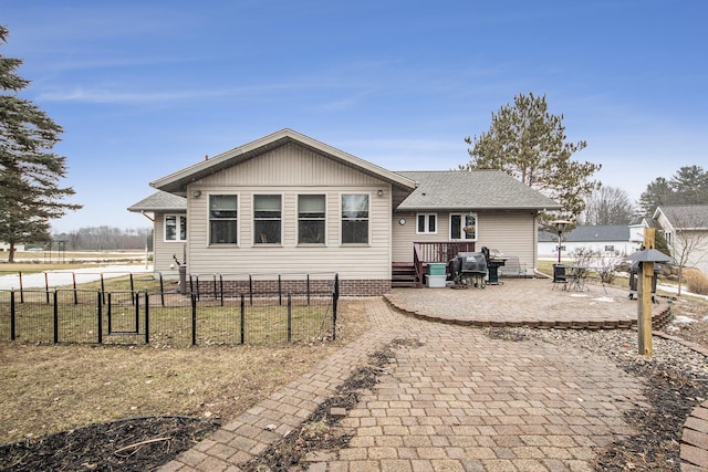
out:
<path id="1" fill-rule="evenodd" d="M 395 264 L 419 284 L 458 249 L 535 268 L 537 217 L 560 209 L 501 171 L 394 172 L 291 129 L 150 186 L 129 210 L 154 214 L 155 271 L 184 254 L 190 274 L 337 273 L 350 295 L 388 292 Z"/>

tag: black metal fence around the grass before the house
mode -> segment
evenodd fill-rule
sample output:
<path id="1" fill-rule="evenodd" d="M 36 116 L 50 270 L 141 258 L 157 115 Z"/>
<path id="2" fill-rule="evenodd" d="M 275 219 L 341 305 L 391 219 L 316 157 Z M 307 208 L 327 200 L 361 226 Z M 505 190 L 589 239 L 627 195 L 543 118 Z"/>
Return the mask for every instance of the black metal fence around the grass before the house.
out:
<path id="1" fill-rule="evenodd" d="M 339 279 L 312 290 L 189 293 L 0 291 L 0 339 L 157 346 L 302 343 L 336 338 Z"/>

